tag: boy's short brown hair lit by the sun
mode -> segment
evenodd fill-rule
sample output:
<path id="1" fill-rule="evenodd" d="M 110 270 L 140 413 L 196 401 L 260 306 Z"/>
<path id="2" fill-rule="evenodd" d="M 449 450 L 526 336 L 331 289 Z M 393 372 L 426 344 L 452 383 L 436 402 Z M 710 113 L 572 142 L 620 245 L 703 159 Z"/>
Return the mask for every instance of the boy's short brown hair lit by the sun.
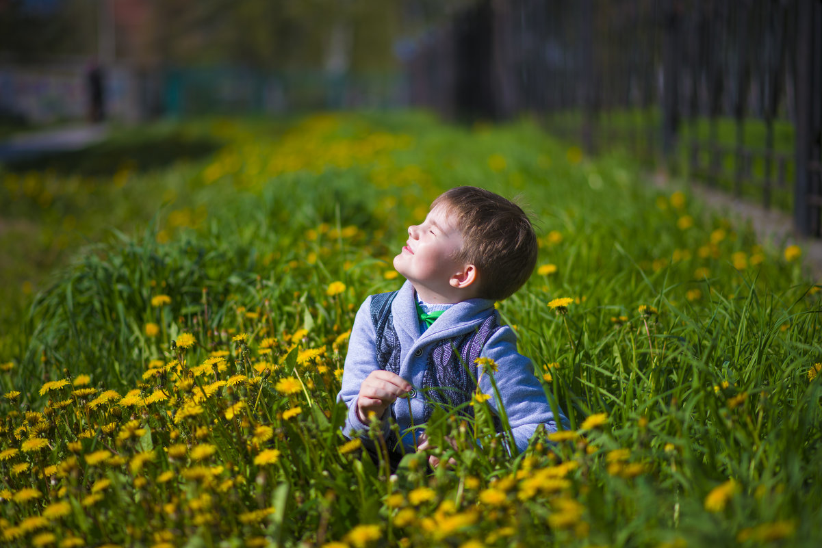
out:
<path id="1" fill-rule="evenodd" d="M 537 265 L 537 235 L 528 215 L 510 200 L 478 187 L 456 187 L 437 196 L 462 233 L 454 257 L 479 273 L 478 297 L 501 301 L 528 281 Z"/>

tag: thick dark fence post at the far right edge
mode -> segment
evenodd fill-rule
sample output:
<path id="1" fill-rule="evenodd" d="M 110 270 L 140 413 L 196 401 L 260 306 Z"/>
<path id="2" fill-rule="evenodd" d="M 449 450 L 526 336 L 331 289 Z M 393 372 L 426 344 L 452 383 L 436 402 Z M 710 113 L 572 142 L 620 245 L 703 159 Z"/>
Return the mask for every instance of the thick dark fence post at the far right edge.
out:
<path id="1" fill-rule="evenodd" d="M 797 9 L 796 67 L 796 154 L 797 170 L 794 182 L 793 219 L 797 232 L 805 236 L 819 235 L 820 205 L 812 204 L 813 179 L 820 177 L 820 75 L 815 69 L 822 62 L 818 31 L 822 2 L 800 0 Z M 812 159 L 813 155 L 817 158 Z M 815 172 L 815 173 L 814 173 Z M 818 189 L 817 189 L 818 190 Z"/>

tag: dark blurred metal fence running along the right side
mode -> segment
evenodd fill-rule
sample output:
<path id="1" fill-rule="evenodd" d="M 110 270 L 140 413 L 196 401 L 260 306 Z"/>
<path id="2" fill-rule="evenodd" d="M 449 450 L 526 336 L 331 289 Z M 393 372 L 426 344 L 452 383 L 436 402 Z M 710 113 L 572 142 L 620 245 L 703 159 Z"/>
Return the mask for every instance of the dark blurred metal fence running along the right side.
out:
<path id="1" fill-rule="evenodd" d="M 589 151 L 662 158 L 822 235 L 822 0 L 483 0 L 408 68 L 412 104 L 538 113 Z"/>

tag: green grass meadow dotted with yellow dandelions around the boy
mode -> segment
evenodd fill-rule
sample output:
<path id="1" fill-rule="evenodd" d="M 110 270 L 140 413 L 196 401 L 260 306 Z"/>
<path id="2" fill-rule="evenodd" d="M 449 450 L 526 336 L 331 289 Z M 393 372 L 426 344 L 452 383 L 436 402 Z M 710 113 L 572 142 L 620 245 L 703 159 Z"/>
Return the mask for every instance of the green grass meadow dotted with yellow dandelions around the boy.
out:
<path id="1" fill-rule="evenodd" d="M 815 546 L 820 293 L 800 248 L 533 122 L 192 127 L 224 144 L 116 181 L 0 172 L 7 203 L 93 189 L 138 225 L 75 248 L 0 336 L 3 546 Z M 460 184 L 537 219 L 538 269 L 497 306 L 569 429 L 511 454 L 477 394 L 391 473 L 339 433 L 349 329 Z"/>

